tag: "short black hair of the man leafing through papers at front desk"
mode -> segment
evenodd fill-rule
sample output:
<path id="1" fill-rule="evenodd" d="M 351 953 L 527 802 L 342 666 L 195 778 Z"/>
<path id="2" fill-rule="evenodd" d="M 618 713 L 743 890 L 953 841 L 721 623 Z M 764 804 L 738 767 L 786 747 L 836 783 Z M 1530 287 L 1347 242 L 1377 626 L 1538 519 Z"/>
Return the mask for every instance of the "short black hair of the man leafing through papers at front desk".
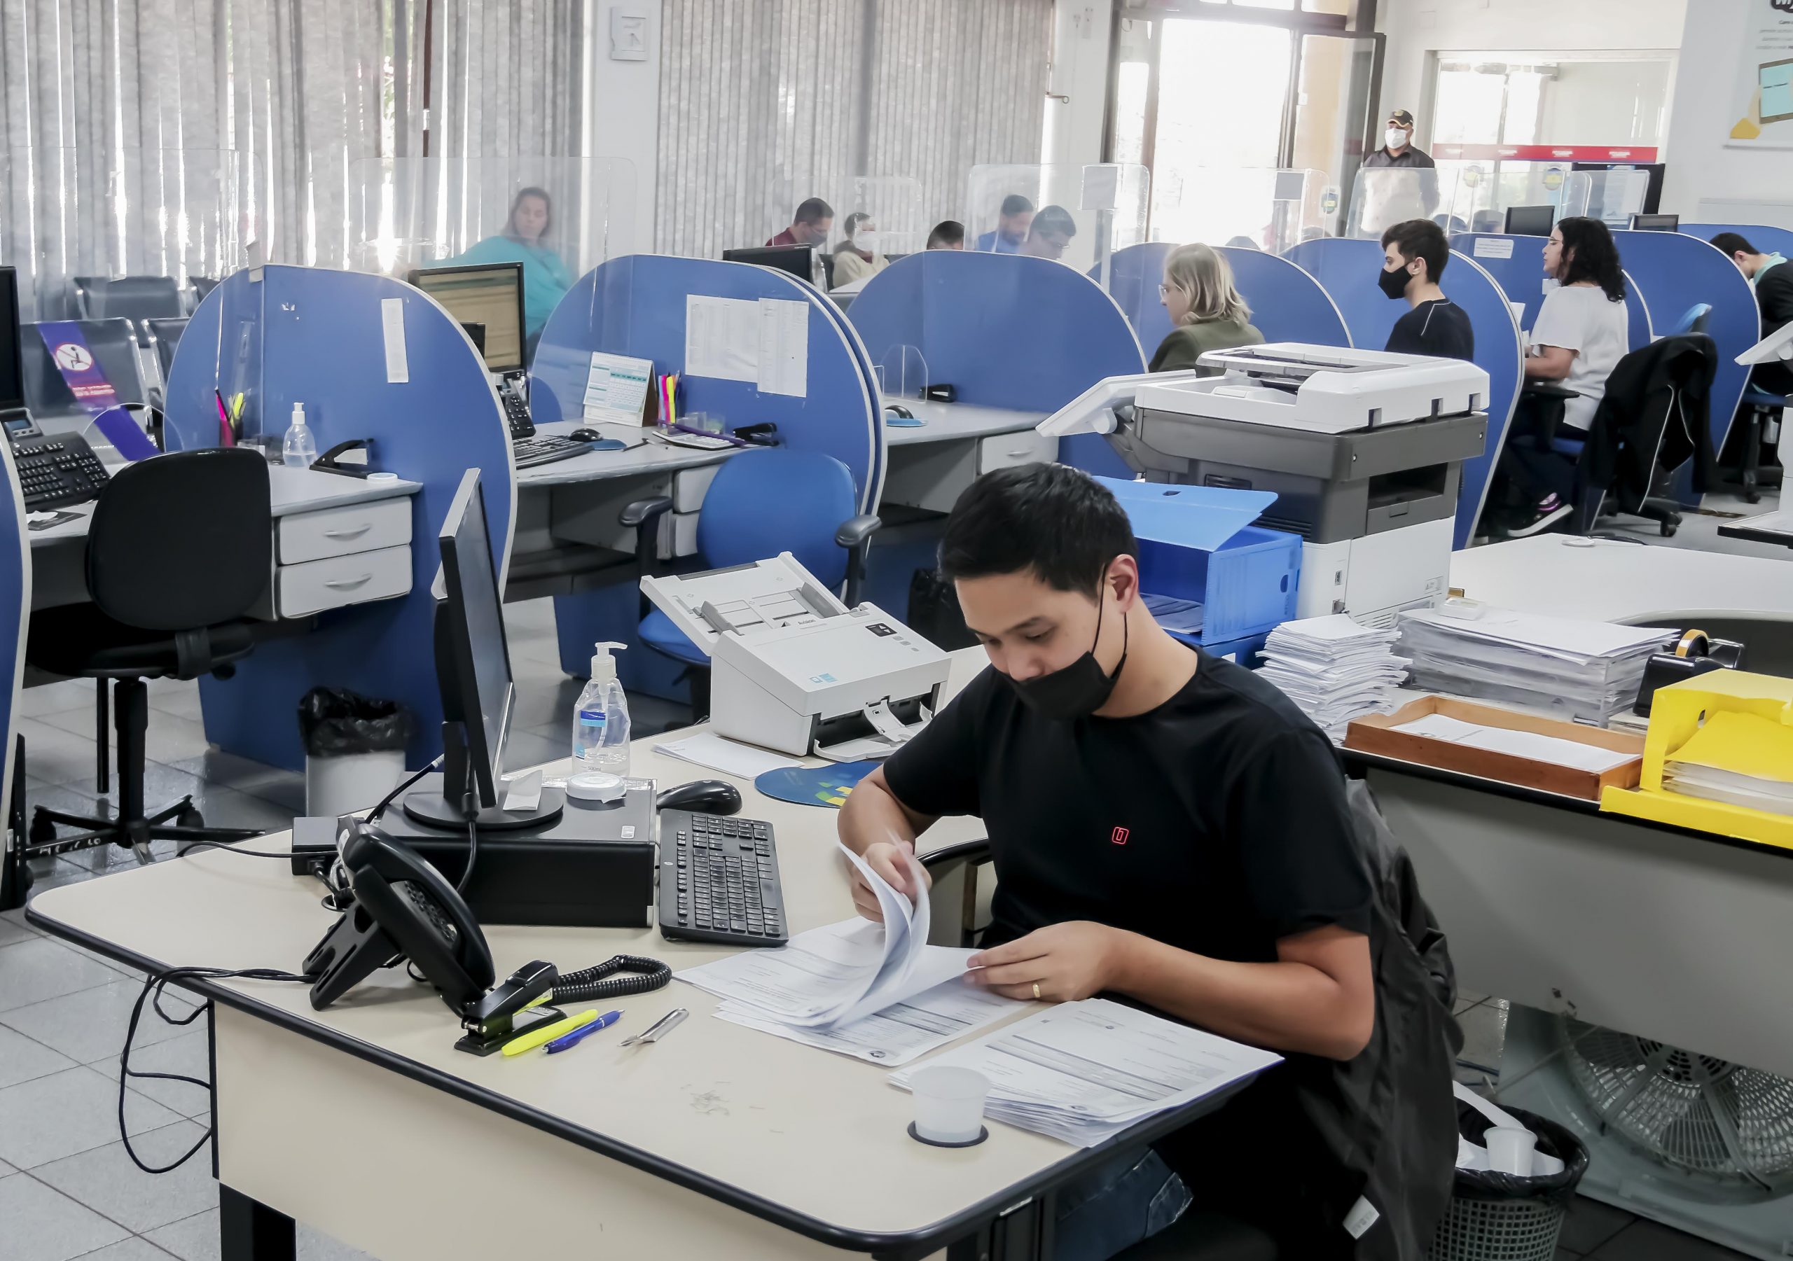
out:
<path id="1" fill-rule="evenodd" d="M 1137 559 L 1139 541 L 1108 487 L 1069 464 L 1017 464 L 952 505 L 940 571 L 950 582 L 1031 570 L 1054 591 L 1097 598 L 1117 555 Z"/>

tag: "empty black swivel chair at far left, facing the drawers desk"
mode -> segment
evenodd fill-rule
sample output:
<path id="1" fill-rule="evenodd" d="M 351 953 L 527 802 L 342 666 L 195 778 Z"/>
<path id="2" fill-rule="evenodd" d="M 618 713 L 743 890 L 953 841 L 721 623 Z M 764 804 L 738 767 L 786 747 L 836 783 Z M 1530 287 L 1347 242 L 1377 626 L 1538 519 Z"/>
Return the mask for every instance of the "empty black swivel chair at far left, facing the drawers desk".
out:
<path id="1" fill-rule="evenodd" d="M 247 614 L 271 570 L 273 512 L 260 451 L 181 451 L 113 475 L 88 528 L 93 604 L 32 614 L 25 659 L 50 673 L 99 679 L 102 695 L 106 681 L 115 681 L 118 815 L 93 819 L 39 806 L 30 822 L 34 845 L 117 844 L 147 862 L 151 840 L 260 835 L 206 828 L 190 795 L 143 813 L 145 679 L 230 677 L 230 663 L 255 647 Z M 59 838 L 57 824 L 82 831 Z"/>

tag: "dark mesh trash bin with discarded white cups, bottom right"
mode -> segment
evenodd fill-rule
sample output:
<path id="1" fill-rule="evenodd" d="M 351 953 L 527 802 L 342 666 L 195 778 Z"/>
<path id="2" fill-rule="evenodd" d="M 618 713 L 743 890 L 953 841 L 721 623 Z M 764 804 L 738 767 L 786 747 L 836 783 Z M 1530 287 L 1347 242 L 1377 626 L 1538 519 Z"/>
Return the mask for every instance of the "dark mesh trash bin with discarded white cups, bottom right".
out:
<path id="1" fill-rule="evenodd" d="M 1506 1105 L 1503 1105 L 1506 1107 Z M 1517 1177 L 1490 1170 L 1458 1170 L 1451 1207 L 1427 1261 L 1553 1261 L 1556 1236 L 1576 1184 L 1587 1173 L 1587 1145 L 1549 1118 L 1517 1107 L 1506 1111 L 1538 1136 L 1538 1152 L 1563 1162 L 1560 1173 Z M 1458 1132 L 1481 1143 L 1488 1118 L 1458 1100 Z"/>

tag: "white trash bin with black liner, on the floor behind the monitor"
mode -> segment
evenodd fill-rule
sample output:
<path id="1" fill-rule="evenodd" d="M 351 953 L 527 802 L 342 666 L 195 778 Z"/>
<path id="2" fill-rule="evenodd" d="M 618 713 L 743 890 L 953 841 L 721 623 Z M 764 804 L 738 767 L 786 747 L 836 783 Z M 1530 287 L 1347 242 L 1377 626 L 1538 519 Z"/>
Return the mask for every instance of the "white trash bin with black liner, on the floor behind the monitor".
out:
<path id="1" fill-rule="evenodd" d="M 299 700 L 305 738 L 305 813 L 366 810 L 405 774 L 405 745 L 416 724 L 396 700 L 373 700 L 348 688 L 312 688 Z"/>

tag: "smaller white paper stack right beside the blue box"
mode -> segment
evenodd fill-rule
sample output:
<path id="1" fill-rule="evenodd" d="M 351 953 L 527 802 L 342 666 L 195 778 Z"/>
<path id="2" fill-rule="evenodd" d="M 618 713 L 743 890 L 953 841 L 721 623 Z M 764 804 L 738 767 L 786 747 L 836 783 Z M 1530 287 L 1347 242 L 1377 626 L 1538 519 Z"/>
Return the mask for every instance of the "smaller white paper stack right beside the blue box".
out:
<path id="1" fill-rule="evenodd" d="M 1395 711 L 1395 688 L 1408 677 L 1395 639 L 1395 630 L 1357 625 L 1343 613 L 1284 622 L 1269 632 L 1257 673 L 1339 740 L 1352 718 Z"/>

